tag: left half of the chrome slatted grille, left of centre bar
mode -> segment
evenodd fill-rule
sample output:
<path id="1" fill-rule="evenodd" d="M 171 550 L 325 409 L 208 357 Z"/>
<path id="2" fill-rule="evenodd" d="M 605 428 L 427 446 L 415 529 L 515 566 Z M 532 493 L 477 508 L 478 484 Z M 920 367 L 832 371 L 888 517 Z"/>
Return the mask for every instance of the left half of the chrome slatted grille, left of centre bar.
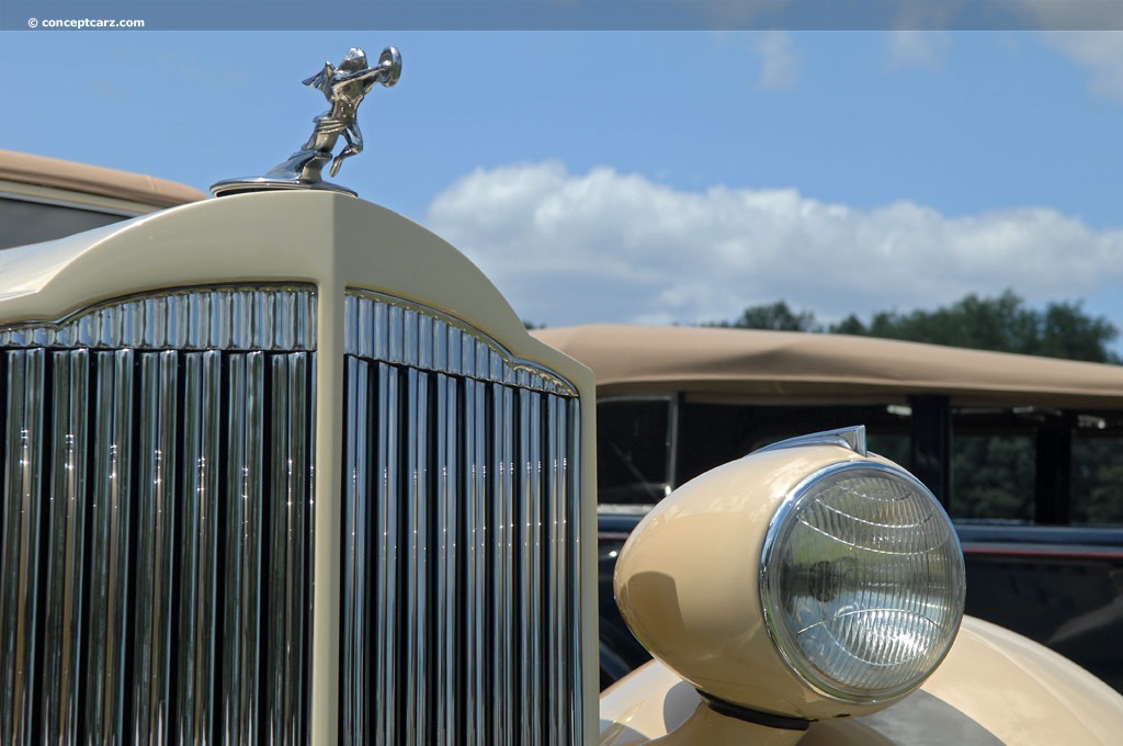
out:
<path id="1" fill-rule="evenodd" d="M 302 743 L 314 293 L 0 328 L 0 743 Z"/>

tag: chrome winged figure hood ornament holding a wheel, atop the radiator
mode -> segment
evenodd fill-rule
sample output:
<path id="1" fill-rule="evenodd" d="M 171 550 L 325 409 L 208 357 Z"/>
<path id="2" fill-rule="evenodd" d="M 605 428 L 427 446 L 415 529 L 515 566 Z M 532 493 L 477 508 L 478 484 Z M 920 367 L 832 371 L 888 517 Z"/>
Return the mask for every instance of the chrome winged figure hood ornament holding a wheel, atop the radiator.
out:
<path id="1" fill-rule="evenodd" d="M 363 133 L 356 119 L 358 106 L 375 85 L 381 83 L 390 88 L 401 74 L 402 56 L 392 46 L 382 51 L 378 64 L 373 67 L 367 67 L 366 53 L 358 48 L 351 48 L 338 66 L 323 63 L 323 70 L 303 81 L 304 85 L 323 93 L 330 104 L 327 111 L 312 120 L 316 128 L 308 142 L 264 176 L 220 181 L 211 186 L 211 193 L 225 197 L 276 189 L 321 189 L 354 194 L 346 186 L 323 181 L 321 172 L 330 162 L 328 173 L 335 176 L 346 158 L 363 152 Z M 340 135 L 347 145 L 332 157 Z"/>

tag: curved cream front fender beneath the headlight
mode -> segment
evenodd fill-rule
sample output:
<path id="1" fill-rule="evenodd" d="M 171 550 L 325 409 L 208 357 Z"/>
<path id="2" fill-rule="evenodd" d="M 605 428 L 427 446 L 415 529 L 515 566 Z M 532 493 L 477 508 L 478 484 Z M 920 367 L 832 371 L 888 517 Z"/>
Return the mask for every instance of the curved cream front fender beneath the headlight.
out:
<path id="1" fill-rule="evenodd" d="M 699 693 L 651 662 L 601 694 L 601 746 L 1046 746 L 1116 744 L 1123 697 L 1067 658 L 970 617 L 935 673 L 864 718 L 784 731 L 709 712 Z"/>

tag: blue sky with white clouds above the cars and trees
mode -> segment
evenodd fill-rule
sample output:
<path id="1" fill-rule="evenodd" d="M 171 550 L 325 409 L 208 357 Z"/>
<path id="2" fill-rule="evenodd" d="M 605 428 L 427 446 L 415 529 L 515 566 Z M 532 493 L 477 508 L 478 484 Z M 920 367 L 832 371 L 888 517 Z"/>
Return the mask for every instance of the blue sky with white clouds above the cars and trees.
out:
<path id="1" fill-rule="evenodd" d="M 335 181 L 527 321 L 1012 290 L 1123 328 L 1120 30 L 2 30 L 0 148 L 206 191 L 307 139 L 325 61 L 386 45 Z"/>

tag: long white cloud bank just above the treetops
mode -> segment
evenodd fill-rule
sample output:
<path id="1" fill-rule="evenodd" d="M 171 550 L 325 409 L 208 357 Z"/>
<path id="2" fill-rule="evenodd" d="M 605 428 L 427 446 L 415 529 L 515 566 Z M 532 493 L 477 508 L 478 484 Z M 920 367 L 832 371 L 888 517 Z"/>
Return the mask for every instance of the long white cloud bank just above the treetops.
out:
<path id="1" fill-rule="evenodd" d="M 829 320 L 968 292 L 1010 288 L 1033 302 L 1123 284 L 1123 231 L 1047 208 L 857 210 L 795 190 L 681 192 L 559 163 L 476 171 L 433 200 L 427 224 L 522 318 L 550 326 L 731 319 L 780 299 Z"/>

